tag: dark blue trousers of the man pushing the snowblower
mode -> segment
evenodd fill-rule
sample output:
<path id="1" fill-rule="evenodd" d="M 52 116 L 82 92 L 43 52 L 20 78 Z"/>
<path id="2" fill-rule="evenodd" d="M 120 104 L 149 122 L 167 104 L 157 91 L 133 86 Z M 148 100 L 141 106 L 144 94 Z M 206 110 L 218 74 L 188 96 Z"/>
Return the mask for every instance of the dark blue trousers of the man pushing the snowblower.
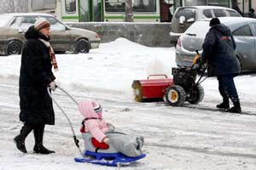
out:
<path id="1" fill-rule="evenodd" d="M 236 85 L 234 82 L 234 75 L 223 75 L 218 78 L 218 91 L 223 97 L 224 101 L 231 99 L 233 103 L 239 101 L 239 97 L 236 91 Z"/>

